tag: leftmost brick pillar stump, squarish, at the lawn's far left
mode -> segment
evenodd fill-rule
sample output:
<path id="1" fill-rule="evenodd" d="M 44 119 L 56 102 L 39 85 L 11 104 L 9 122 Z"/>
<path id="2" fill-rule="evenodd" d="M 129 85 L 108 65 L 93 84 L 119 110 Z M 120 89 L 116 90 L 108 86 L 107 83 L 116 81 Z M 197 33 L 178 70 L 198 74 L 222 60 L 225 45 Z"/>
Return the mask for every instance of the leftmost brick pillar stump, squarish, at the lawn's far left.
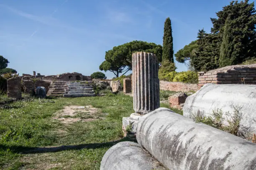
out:
<path id="1" fill-rule="evenodd" d="M 14 77 L 7 80 L 7 96 L 16 99 L 21 98 L 21 78 Z"/>

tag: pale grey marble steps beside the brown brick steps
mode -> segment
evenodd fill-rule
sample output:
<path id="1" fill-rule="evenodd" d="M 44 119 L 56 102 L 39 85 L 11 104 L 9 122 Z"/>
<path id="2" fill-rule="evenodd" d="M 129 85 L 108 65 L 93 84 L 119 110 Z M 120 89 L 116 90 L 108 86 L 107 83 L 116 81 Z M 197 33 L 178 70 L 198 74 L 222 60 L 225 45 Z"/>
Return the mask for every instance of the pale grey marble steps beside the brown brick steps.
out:
<path id="1" fill-rule="evenodd" d="M 69 82 L 64 97 L 95 96 L 92 81 Z"/>

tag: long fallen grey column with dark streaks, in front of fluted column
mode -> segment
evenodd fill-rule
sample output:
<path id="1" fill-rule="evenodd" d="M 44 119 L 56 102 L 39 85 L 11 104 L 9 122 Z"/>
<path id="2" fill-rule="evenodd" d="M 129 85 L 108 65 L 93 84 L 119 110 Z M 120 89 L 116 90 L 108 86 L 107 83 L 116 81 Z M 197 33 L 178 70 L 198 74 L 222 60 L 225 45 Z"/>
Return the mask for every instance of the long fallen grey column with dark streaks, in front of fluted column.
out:
<path id="1" fill-rule="evenodd" d="M 256 169 L 256 144 L 163 107 L 139 119 L 137 141 L 170 170 Z"/>

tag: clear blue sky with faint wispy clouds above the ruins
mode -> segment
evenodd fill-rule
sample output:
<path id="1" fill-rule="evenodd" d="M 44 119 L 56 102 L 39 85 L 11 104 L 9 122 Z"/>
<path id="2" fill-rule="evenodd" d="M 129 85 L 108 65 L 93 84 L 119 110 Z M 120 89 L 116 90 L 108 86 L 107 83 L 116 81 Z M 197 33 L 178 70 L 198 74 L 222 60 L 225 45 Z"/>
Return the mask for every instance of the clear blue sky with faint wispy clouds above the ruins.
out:
<path id="1" fill-rule="evenodd" d="M 20 74 L 100 71 L 105 51 L 132 40 L 162 45 L 172 20 L 174 53 L 210 32 L 230 0 L 1 0 L 0 55 Z M 177 71 L 187 70 L 176 62 Z M 112 72 L 105 72 L 112 78 Z"/>

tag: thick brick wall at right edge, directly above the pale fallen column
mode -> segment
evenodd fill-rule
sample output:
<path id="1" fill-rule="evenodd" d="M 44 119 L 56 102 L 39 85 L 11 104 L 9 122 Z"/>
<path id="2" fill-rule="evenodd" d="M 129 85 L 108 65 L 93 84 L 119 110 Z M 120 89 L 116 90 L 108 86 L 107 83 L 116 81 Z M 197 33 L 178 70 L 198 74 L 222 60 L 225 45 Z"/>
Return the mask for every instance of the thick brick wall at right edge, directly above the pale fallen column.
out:
<path id="1" fill-rule="evenodd" d="M 198 86 L 213 84 L 256 84 L 256 64 L 231 65 L 208 72 L 198 72 Z"/>

